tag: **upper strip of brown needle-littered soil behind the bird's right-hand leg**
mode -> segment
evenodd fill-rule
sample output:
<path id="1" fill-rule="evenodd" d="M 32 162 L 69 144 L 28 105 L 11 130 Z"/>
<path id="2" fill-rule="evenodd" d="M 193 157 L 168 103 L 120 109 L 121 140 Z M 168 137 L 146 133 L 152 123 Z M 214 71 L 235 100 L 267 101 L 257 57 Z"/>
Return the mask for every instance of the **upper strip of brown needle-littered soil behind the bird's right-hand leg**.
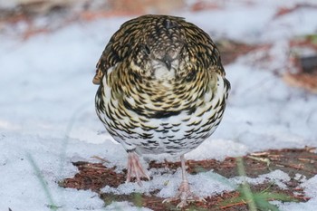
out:
<path id="1" fill-rule="evenodd" d="M 247 177 L 258 177 L 269 173 L 272 170 L 280 169 L 294 177 L 296 173 L 307 178 L 317 174 L 317 155 L 314 149 L 275 149 L 263 152 L 256 152 L 244 157 L 245 173 Z M 262 161 L 261 161 L 262 160 Z M 269 161 L 269 165 L 265 160 Z M 149 168 L 177 169 L 180 162 L 156 163 L 151 161 Z M 187 160 L 187 172 L 197 174 L 199 172 L 214 169 L 217 174 L 224 177 L 236 177 L 237 168 L 235 158 L 225 158 L 223 161 L 216 159 Z"/>

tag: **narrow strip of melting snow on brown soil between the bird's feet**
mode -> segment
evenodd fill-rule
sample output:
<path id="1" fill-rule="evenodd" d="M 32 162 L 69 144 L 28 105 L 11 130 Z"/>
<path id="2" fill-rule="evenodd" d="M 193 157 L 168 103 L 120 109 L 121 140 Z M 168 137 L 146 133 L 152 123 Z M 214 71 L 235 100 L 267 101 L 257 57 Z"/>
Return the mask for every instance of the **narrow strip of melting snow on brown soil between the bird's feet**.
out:
<path id="1" fill-rule="evenodd" d="M 142 182 L 142 186 L 133 183 L 125 183 L 117 188 L 103 187 L 102 192 L 114 193 L 116 195 L 129 195 L 131 193 L 144 193 L 160 189 L 157 194 L 158 197 L 174 197 L 178 193 L 180 183 L 181 170 L 178 169 L 174 174 L 161 175 L 158 169 L 150 169 L 153 179 Z M 154 174 L 153 174 L 154 173 Z M 268 174 L 261 175 L 256 178 L 250 177 L 232 177 L 227 179 L 213 172 L 213 170 L 198 173 L 197 175 L 188 175 L 191 190 L 194 194 L 200 197 L 208 197 L 216 194 L 221 194 L 224 191 L 232 191 L 242 184 L 244 181 L 249 184 L 263 184 L 270 182 L 276 184 L 278 187 L 286 188 L 285 183 L 291 178 L 281 170 L 274 170 Z"/>

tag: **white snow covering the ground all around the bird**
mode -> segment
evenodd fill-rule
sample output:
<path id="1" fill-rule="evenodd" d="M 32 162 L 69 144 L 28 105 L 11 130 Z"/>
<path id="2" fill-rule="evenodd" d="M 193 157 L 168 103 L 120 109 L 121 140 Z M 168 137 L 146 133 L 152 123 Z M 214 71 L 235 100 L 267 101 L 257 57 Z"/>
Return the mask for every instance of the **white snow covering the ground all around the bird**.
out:
<path id="1" fill-rule="evenodd" d="M 317 147 L 317 96 L 289 87 L 270 69 L 281 67 L 280 72 L 284 71 L 287 40 L 317 31 L 316 8 L 303 7 L 274 18 L 278 8 L 303 2 L 315 4 L 313 0 L 222 1 L 216 10 L 175 13 L 212 37 L 274 44 L 270 52 L 274 60 L 268 68 L 251 65 L 252 54 L 225 67 L 232 84 L 225 118 L 215 134 L 187 158 L 222 159 L 262 149 Z M 110 35 L 130 18 L 71 24 L 26 41 L 14 34 L 0 34 L 0 210 L 50 210 L 50 205 L 67 211 L 139 210 L 126 202 L 104 207 L 96 193 L 57 184 L 77 172 L 71 161 L 97 162 L 91 157 L 99 156 L 110 165 L 126 166 L 125 151 L 110 141 L 97 119 L 97 86 L 91 80 Z M 158 171 L 151 169 L 150 173 Z M 193 191 L 204 197 L 232 188 L 212 175 L 189 176 Z M 280 184 L 289 179 L 282 171 L 263 177 Z M 163 185 L 166 181 L 167 186 Z M 170 197 L 179 182 L 178 171 L 154 177 L 144 182 L 143 188 L 132 183 L 103 191 L 149 192 L 159 188 L 160 197 Z M 282 210 L 316 210 L 317 176 L 303 181 L 302 186 L 312 199 L 280 205 Z"/>

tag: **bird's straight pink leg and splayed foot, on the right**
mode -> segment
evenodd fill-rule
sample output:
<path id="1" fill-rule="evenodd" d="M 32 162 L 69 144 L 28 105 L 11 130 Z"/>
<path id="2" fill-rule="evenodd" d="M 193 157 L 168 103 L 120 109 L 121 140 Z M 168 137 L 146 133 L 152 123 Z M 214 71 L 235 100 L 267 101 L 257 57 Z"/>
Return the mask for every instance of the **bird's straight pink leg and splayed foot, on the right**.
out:
<path id="1" fill-rule="evenodd" d="M 184 206 L 187 206 L 187 201 L 205 202 L 206 200 L 204 198 L 197 197 L 190 191 L 188 180 L 187 180 L 187 172 L 186 172 L 184 155 L 180 156 L 180 163 L 181 163 L 181 169 L 182 169 L 182 182 L 178 188 L 178 194 L 175 197 L 170 197 L 165 199 L 163 203 L 168 203 L 168 202 L 176 201 L 180 199 L 180 202 L 178 203 L 177 207 L 182 208 Z"/>

